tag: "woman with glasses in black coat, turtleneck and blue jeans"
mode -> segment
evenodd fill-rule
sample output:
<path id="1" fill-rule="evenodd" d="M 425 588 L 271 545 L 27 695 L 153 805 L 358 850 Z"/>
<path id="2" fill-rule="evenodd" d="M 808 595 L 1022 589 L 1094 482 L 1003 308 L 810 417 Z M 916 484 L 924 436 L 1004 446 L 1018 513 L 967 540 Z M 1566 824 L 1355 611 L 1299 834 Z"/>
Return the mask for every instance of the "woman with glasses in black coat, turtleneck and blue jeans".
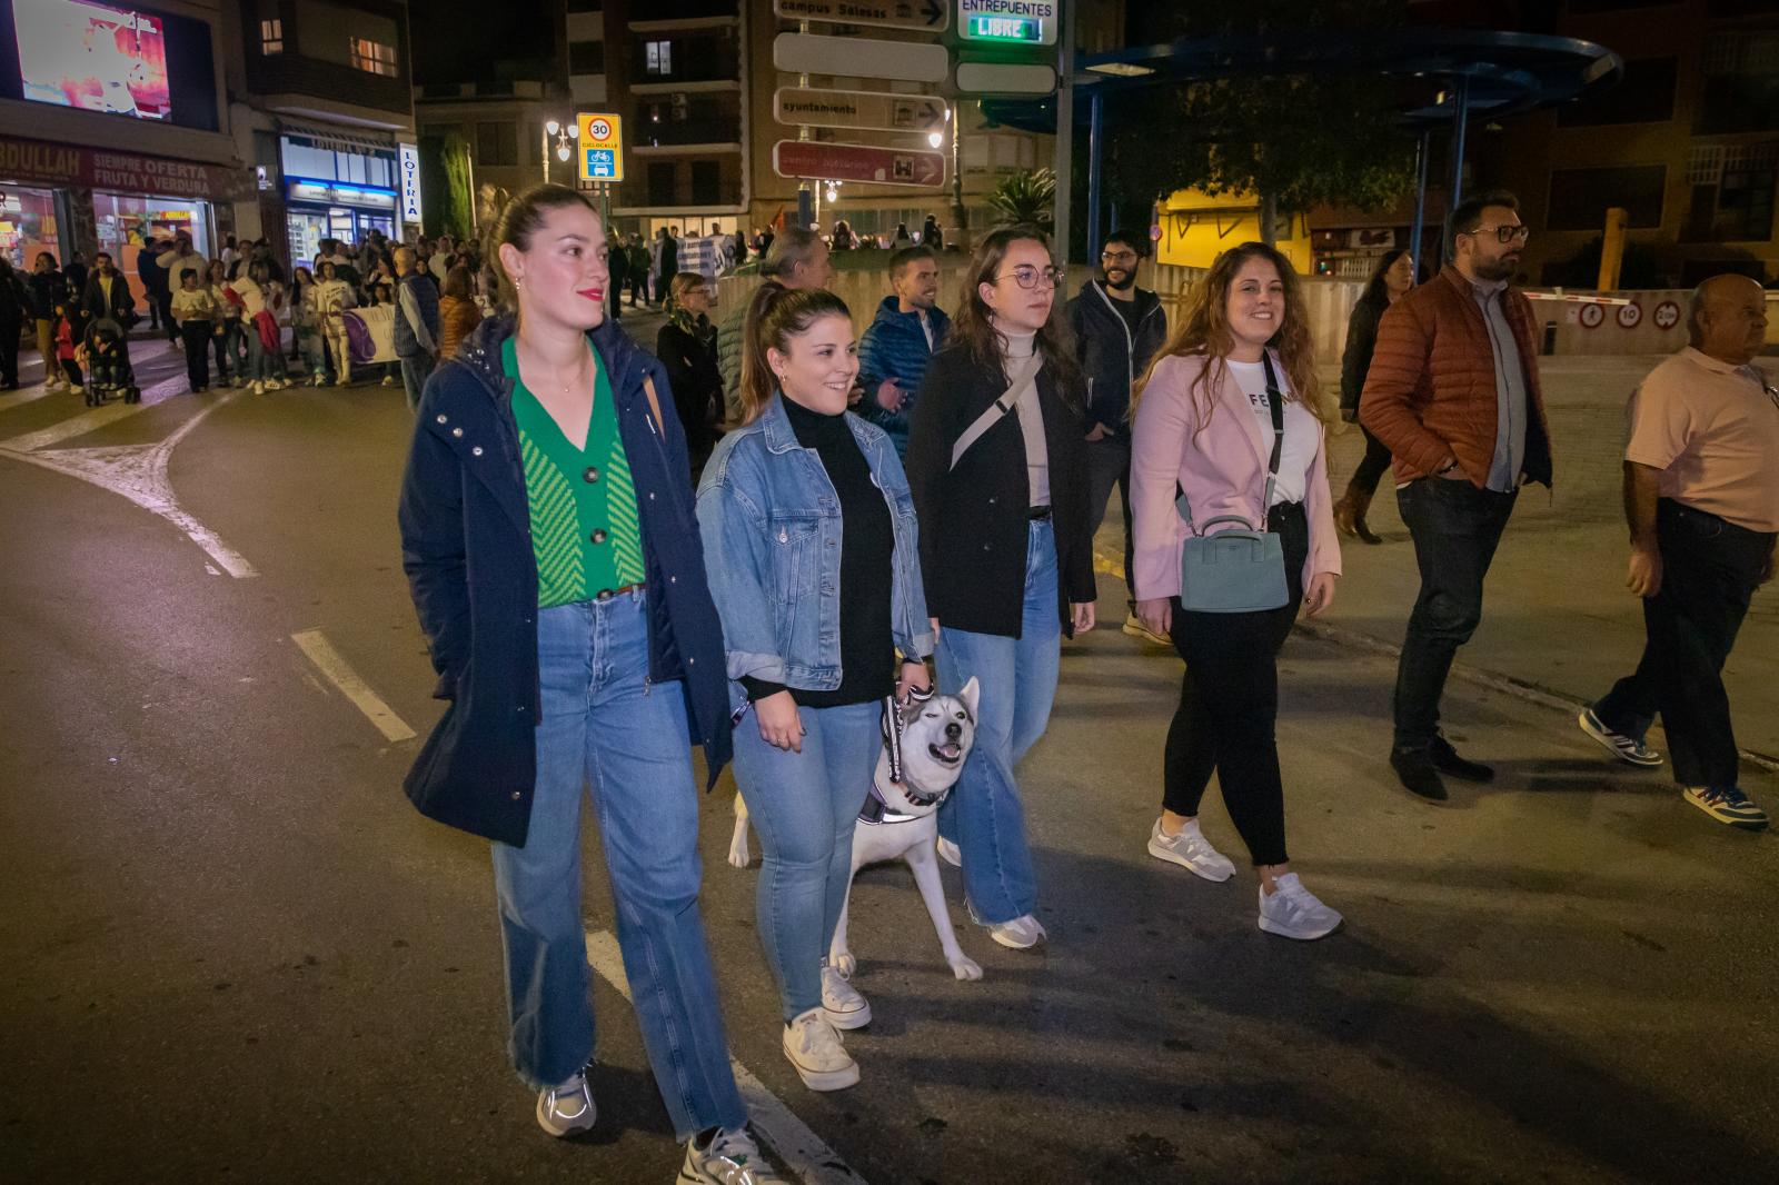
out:
<path id="1" fill-rule="evenodd" d="M 962 861 L 971 916 L 1016 950 L 1044 927 L 1012 770 L 1050 722 L 1062 635 L 1094 628 L 1087 400 L 1057 326 L 1060 279 L 1037 230 L 996 230 L 977 246 L 907 441 L 939 690 L 957 694 L 971 676 L 982 689 L 939 850 Z"/>

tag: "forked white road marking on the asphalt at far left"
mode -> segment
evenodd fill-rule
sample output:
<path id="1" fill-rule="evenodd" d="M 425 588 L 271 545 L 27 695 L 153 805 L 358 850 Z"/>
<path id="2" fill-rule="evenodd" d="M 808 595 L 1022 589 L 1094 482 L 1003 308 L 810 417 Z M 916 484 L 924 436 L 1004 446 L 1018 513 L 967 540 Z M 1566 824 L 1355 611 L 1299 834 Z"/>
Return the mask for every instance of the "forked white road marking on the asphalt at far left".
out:
<path id="1" fill-rule="evenodd" d="M 144 395 L 153 395 L 169 383 L 174 383 L 174 379 L 144 391 Z M 173 455 L 174 447 L 178 447 L 178 443 L 185 439 L 192 429 L 205 420 L 205 416 L 233 400 L 237 395 L 240 395 L 240 391 L 229 391 L 228 395 L 208 404 L 197 411 L 197 415 L 181 423 L 178 431 L 155 445 L 112 445 L 101 448 L 55 448 L 50 452 L 37 452 L 57 441 L 84 436 L 85 432 L 105 427 L 107 423 L 116 423 L 125 416 L 155 406 L 144 400 L 141 404 L 107 404 L 39 432 L 25 432 L 23 436 L 0 441 L 0 455 L 9 455 L 14 461 L 25 461 L 44 470 L 55 470 L 57 473 L 68 473 L 69 477 L 78 477 L 84 482 L 93 482 L 100 489 L 121 495 L 183 530 L 185 536 L 201 546 L 228 575 L 235 578 L 258 576 L 260 573 L 254 571 L 253 564 L 249 564 L 240 552 L 222 543 L 213 530 L 205 527 L 180 505 L 173 493 L 173 482 L 167 480 L 167 459 Z"/>

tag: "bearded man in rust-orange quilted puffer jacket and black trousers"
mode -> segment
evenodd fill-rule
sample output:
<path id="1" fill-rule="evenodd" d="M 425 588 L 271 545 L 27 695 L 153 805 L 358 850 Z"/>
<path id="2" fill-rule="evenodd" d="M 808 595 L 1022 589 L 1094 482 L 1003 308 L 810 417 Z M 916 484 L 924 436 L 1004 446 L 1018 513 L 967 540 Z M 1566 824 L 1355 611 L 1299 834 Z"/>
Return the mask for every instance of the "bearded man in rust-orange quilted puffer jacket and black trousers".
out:
<path id="1" fill-rule="evenodd" d="M 1439 735 L 1439 697 L 1457 648 L 1482 619 L 1482 582 L 1523 482 L 1551 484 L 1532 302 L 1507 281 L 1526 228 L 1512 194 L 1452 212 L 1452 263 L 1389 306 L 1359 420 L 1389 445 L 1397 502 L 1414 537 L 1421 592 L 1397 669 L 1389 765 L 1445 801 L 1441 774 L 1489 781 Z"/>

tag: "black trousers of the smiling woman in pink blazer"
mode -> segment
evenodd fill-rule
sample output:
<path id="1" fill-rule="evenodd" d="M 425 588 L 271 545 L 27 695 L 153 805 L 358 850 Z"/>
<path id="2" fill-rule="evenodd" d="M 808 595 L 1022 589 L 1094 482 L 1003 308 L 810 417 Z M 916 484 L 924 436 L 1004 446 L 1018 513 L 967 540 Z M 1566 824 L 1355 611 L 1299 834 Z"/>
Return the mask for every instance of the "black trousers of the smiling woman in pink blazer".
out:
<path id="1" fill-rule="evenodd" d="M 1229 820 L 1256 865 L 1283 865 L 1284 783 L 1279 776 L 1279 649 L 1304 603 L 1309 520 L 1304 505 L 1272 507 L 1272 530 L 1284 543 L 1281 609 L 1206 614 L 1174 598 L 1174 649 L 1187 660 L 1179 706 L 1167 728 L 1162 806 L 1197 815 L 1211 772 L 1222 785 Z"/>

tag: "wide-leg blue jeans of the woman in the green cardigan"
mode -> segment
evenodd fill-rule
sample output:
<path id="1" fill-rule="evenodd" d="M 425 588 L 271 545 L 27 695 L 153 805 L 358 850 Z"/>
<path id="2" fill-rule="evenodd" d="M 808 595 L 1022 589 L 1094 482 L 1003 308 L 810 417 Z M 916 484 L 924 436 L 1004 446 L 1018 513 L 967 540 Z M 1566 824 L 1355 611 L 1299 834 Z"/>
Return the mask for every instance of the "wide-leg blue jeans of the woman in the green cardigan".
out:
<path id="1" fill-rule="evenodd" d="M 697 909 L 697 788 L 680 683 L 648 687 L 644 592 L 537 614 L 543 721 L 525 847 L 495 843 L 507 952 L 509 1052 L 534 1089 L 592 1057 L 580 916 L 580 804 L 592 804 L 617 909 L 617 945 L 655 1085 L 681 1141 L 737 1128 L 717 980 Z"/>

